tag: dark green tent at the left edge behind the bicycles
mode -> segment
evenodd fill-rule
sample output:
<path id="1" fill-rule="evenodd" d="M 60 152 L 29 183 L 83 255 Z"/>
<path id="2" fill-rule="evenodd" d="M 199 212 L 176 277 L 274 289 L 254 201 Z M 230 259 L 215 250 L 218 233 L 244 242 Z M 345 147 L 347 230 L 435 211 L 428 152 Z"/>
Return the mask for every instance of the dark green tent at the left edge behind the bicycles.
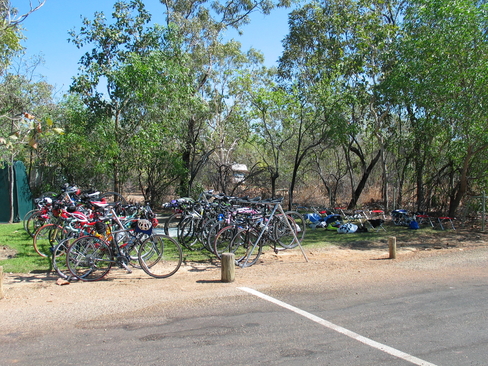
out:
<path id="1" fill-rule="evenodd" d="M 24 164 L 14 163 L 14 221 L 19 222 L 33 209 L 32 193 Z M 0 169 L 0 222 L 10 220 L 9 169 L 6 164 Z"/>

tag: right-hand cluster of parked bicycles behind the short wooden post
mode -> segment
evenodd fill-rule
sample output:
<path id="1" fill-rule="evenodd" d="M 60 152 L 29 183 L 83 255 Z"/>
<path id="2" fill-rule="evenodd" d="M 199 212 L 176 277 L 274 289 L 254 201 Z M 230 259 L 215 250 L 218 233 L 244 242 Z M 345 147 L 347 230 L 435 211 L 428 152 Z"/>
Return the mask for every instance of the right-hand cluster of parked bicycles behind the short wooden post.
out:
<path id="1" fill-rule="evenodd" d="M 306 223 L 297 211 L 284 211 L 283 199 L 229 197 L 204 192 L 198 200 L 179 198 L 163 205 L 172 215 L 164 232 L 189 250 L 206 250 L 221 258 L 233 253 L 241 267 L 253 265 L 263 247 L 291 249 L 305 236 Z"/>

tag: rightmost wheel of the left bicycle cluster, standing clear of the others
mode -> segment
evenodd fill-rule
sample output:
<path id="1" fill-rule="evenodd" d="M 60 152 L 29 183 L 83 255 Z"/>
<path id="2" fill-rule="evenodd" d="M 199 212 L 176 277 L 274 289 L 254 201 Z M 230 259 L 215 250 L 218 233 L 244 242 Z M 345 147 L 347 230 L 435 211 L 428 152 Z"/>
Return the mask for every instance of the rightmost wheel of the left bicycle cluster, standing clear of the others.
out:
<path id="1" fill-rule="evenodd" d="M 139 264 L 149 276 L 166 278 L 174 275 L 183 261 L 180 244 L 167 235 L 153 235 L 139 248 Z"/>

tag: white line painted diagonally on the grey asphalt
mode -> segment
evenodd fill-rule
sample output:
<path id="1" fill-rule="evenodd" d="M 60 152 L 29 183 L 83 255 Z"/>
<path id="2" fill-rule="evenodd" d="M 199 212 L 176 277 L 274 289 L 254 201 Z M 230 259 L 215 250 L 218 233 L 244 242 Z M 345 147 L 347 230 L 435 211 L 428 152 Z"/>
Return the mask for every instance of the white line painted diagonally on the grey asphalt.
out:
<path id="1" fill-rule="evenodd" d="M 322 318 L 319 318 L 318 316 L 315 316 L 313 314 L 310 314 L 304 310 L 301 310 L 293 305 L 290 305 L 290 304 L 287 304 L 283 301 L 280 301 L 280 300 L 277 300 L 271 296 L 268 296 L 268 295 L 265 295 L 259 291 L 256 291 L 256 290 L 253 290 L 252 288 L 249 288 L 249 287 L 238 287 L 240 290 L 242 291 L 246 291 L 254 296 L 257 296 L 257 297 L 260 297 L 261 299 L 263 300 L 266 300 L 266 301 L 269 301 L 273 304 L 276 304 L 278 306 L 281 306 L 285 309 L 288 309 L 288 310 L 291 310 L 293 311 L 294 313 L 297 313 L 301 316 L 304 316 L 305 318 L 307 319 L 310 319 L 318 324 L 321 324 L 323 325 L 324 327 L 327 327 L 329 329 L 332 329 L 332 330 L 335 330 L 336 332 L 339 332 L 339 333 L 342 333 L 352 339 L 355 339 L 361 343 L 364 343 L 370 347 L 373 347 L 373 348 L 376 348 L 376 349 L 379 349 L 380 351 L 383 351 L 385 353 L 388 353 L 392 356 L 395 356 L 395 357 L 398 357 L 398 358 L 401 358 L 402 360 L 405 360 L 405 361 L 408 361 L 408 362 L 411 362 L 413 363 L 414 365 L 419 365 L 419 366 L 436 366 L 435 364 L 433 363 L 430 363 L 430 362 L 427 362 L 427 361 L 424 361 L 424 360 L 421 360 L 420 358 L 417 358 L 415 356 L 412 356 L 412 355 L 409 355 L 408 353 L 405 353 L 405 352 L 402 352 L 402 351 L 399 351 L 395 348 L 392 348 L 392 347 L 389 347 L 387 345 L 384 345 L 382 343 L 379 343 L 379 342 L 376 342 L 376 341 L 373 341 L 372 339 L 369 339 L 369 338 L 366 338 L 366 337 L 363 337 L 357 333 L 354 333 L 346 328 L 343 328 L 343 327 L 340 327 L 338 325 L 335 325 L 327 320 L 324 320 Z"/>

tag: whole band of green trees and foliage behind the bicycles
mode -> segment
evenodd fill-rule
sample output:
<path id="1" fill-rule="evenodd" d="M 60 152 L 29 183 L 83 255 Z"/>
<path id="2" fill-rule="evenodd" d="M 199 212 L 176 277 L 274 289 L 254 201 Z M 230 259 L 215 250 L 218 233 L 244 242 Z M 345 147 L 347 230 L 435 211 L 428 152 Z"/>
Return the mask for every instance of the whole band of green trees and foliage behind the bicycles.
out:
<path id="1" fill-rule="evenodd" d="M 204 186 L 234 192 L 234 162 L 260 174 L 243 189 L 272 181 L 271 191 L 293 192 L 320 174 L 354 206 L 368 186 L 386 201 L 394 184 L 418 209 L 452 211 L 486 187 L 484 2 L 304 3 L 289 16 L 278 69 L 224 41 L 252 12 L 288 5 L 171 0 L 160 26 L 143 1 L 118 1 L 111 17 L 96 13 L 70 33 L 91 50 L 57 105 L 46 83 L 1 68 L 21 37 L 2 24 L 2 159 L 83 186 L 131 182 L 153 203 Z"/>

